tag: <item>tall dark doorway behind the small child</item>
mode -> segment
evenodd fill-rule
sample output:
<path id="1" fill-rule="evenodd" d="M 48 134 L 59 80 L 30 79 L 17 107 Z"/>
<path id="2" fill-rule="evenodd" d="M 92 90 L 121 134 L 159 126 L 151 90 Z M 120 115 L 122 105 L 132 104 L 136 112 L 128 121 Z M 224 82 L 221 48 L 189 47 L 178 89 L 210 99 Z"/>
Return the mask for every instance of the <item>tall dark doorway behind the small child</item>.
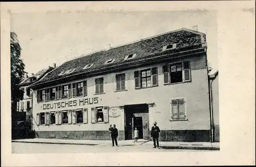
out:
<path id="1" fill-rule="evenodd" d="M 124 105 L 124 135 L 125 140 L 134 139 L 134 129 L 139 130 L 139 138 L 148 140 L 150 129 L 148 126 L 148 105 Z"/>

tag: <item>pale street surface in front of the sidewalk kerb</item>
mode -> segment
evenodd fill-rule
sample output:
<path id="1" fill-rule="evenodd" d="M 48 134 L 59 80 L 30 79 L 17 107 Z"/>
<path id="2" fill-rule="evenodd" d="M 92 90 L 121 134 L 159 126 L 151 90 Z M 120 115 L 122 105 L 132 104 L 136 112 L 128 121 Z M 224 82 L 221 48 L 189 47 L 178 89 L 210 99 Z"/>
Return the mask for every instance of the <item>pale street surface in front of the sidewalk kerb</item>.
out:
<path id="1" fill-rule="evenodd" d="M 161 146 L 160 146 L 161 147 Z M 12 153 L 105 153 L 105 152 L 174 152 L 174 151 L 207 151 L 207 150 L 184 150 L 184 149 L 156 149 L 153 146 L 119 146 L 106 145 L 69 145 L 69 144 L 37 144 L 37 143 L 12 143 Z"/>

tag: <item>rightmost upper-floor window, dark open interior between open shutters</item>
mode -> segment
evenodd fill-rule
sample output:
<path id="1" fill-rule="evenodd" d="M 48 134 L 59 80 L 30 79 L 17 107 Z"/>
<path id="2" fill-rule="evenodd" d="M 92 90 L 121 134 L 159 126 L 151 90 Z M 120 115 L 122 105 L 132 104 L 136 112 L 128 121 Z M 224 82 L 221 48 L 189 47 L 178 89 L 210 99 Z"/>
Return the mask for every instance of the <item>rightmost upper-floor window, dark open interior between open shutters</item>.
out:
<path id="1" fill-rule="evenodd" d="M 164 84 L 174 84 L 191 80 L 189 62 L 163 66 Z"/>

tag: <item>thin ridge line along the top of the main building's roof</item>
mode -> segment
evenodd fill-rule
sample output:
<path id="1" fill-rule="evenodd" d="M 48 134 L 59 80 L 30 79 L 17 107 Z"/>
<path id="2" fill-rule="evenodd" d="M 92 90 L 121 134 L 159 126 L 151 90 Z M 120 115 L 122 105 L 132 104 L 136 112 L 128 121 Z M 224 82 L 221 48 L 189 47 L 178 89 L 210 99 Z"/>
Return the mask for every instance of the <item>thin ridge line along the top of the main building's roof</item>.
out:
<path id="1" fill-rule="evenodd" d="M 135 41 L 132 41 L 132 42 L 127 42 L 127 43 L 116 45 L 116 46 L 113 46 L 113 47 L 110 47 L 110 48 L 107 48 L 107 49 L 100 49 L 100 50 L 97 50 L 97 51 L 94 51 L 94 52 L 90 52 L 90 53 L 87 53 L 87 54 L 82 54 L 82 55 L 79 55 L 78 57 L 70 59 L 69 61 L 76 60 L 76 59 L 79 59 L 79 58 L 82 58 L 82 57 L 85 57 L 87 55 L 91 55 L 91 54 L 94 54 L 94 53 L 97 53 L 97 52 L 107 51 L 107 50 L 110 50 L 110 49 L 113 49 L 113 48 L 122 47 L 122 46 L 125 46 L 125 45 L 137 43 L 137 42 L 140 42 L 140 41 L 145 41 L 145 40 L 148 40 L 148 39 L 156 38 L 156 37 L 159 37 L 159 36 L 162 36 L 162 35 L 165 35 L 165 34 L 169 34 L 169 33 L 179 32 L 179 31 L 182 31 L 182 30 L 185 30 L 185 31 L 188 31 L 188 32 L 192 32 L 192 33 L 196 33 L 196 34 L 199 34 L 199 35 L 203 34 L 203 33 L 200 33 L 198 31 L 194 31 L 194 30 L 190 30 L 190 29 L 187 29 L 185 27 L 182 27 L 181 29 L 177 29 L 177 30 L 173 30 L 173 31 L 168 31 L 168 32 L 165 32 L 165 33 L 161 33 L 161 34 L 154 35 L 154 36 L 151 36 L 151 37 L 142 38 L 142 39 L 135 40 Z M 67 61 L 67 62 L 69 62 L 69 61 Z"/>

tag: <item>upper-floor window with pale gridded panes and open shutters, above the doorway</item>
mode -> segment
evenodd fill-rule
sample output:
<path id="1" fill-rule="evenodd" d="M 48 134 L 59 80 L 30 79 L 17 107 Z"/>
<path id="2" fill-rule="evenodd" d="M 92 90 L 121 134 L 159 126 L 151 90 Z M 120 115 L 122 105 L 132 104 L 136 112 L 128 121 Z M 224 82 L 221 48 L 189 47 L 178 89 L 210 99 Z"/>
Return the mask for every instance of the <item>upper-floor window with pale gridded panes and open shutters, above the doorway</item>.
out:
<path id="1" fill-rule="evenodd" d="M 148 88 L 158 86 L 157 67 L 134 71 L 135 88 Z"/>

